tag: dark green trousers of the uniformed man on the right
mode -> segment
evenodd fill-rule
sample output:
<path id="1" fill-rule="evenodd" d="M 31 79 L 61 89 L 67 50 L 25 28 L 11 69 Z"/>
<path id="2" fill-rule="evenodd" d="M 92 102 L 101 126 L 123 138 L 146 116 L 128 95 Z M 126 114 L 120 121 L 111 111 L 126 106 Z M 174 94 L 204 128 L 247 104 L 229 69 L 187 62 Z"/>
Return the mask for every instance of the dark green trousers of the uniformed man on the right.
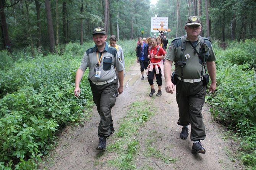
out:
<path id="1" fill-rule="evenodd" d="M 204 140 L 206 137 L 203 115 L 206 87 L 203 82 L 189 83 L 177 80 L 176 100 L 179 107 L 178 125 L 191 125 L 190 140 Z"/>

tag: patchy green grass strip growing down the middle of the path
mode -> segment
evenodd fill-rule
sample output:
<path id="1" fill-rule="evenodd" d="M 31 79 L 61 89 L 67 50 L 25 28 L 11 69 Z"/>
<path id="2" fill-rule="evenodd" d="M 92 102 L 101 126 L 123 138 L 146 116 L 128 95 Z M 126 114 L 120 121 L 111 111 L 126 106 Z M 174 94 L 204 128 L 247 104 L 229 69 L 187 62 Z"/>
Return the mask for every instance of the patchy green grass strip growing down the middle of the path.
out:
<path id="1" fill-rule="evenodd" d="M 138 130 L 144 126 L 152 115 L 154 115 L 156 107 L 152 106 L 148 101 L 136 101 L 129 106 L 125 117 L 118 121 L 119 129 L 114 133 L 115 138 L 112 144 L 108 144 L 107 152 L 102 154 L 104 157 L 110 153 L 116 153 L 117 157 L 108 160 L 107 166 L 115 167 L 118 170 L 137 170 L 136 156 L 141 154 L 141 141 L 138 140 Z M 147 141 L 147 151 L 143 151 L 145 157 L 156 157 L 165 164 L 175 162 L 175 159 L 167 158 L 164 154 L 157 150 L 153 143 Z M 95 165 L 98 165 L 99 162 Z M 143 168 L 154 169 L 149 165 L 143 165 Z"/>

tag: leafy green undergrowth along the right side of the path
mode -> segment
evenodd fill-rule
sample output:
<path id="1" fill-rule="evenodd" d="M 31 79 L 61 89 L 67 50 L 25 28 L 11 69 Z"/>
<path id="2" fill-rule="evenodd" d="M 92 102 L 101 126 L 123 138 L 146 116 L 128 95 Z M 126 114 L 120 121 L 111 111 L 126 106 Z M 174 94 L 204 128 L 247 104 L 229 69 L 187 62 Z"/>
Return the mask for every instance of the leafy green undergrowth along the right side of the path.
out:
<path id="1" fill-rule="evenodd" d="M 226 125 L 240 146 L 238 164 L 256 169 L 256 40 L 215 47 L 217 91 L 207 99 L 211 113 Z M 231 136 L 229 136 L 230 138 Z"/>

